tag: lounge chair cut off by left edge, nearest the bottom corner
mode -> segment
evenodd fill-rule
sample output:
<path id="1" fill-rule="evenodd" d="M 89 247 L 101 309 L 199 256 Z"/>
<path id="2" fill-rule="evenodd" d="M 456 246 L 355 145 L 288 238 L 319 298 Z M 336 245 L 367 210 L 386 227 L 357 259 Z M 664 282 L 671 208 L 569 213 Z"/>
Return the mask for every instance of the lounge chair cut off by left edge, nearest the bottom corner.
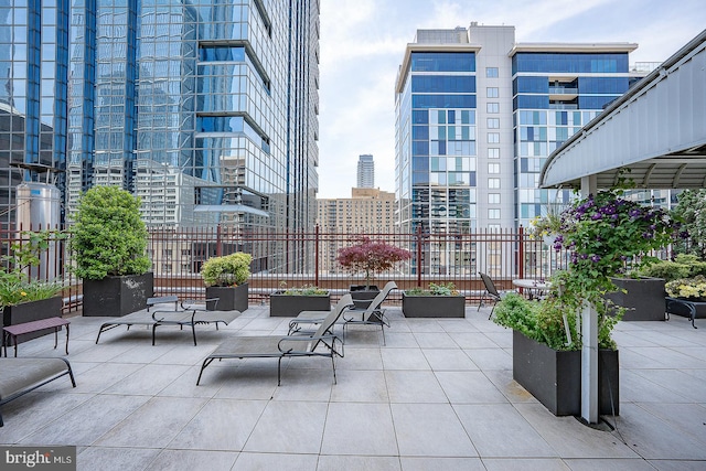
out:
<path id="1" fill-rule="evenodd" d="M 68 375 L 76 387 L 71 364 L 64 358 L 0 358 L 0 406 Z M 0 414 L 0 427 L 4 426 Z"/>

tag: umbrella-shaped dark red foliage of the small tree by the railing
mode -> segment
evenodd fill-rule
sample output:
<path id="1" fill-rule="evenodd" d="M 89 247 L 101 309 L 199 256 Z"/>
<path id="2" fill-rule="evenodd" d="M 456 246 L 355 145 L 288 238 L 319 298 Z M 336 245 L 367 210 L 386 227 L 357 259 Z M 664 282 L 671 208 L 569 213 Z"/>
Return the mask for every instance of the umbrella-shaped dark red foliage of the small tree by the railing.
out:
<path id="1" fill-rule="evenodd" d="M 336 261 L 353 274 L 364 272 L 365 288 L 370 289 L 371 279 L 376 272 L 389 270 L 395 264 L 409 258 L 409 250 L 383 240 L 361 237 L 357 244 L 340 249 Z"/>

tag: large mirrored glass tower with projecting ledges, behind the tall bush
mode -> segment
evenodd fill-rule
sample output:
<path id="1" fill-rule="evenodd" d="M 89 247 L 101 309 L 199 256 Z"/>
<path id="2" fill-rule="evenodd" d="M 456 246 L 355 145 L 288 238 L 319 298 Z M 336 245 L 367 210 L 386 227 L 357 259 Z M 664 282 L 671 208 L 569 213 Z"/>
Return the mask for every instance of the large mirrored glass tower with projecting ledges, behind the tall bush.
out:
<path id="1" fill-rule="evenodd" d="M 74 0 L 66 203 L 113 184 L 150 225 L 310 228 L 319 10 Z"/>

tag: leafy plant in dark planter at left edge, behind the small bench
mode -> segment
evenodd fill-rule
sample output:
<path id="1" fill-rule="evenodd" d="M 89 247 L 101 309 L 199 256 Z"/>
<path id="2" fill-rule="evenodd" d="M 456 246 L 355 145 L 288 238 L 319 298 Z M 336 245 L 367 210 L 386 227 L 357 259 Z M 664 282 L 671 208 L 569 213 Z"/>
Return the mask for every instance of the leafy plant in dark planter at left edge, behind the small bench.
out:
<path id="1" fill-rule="evenodd" d="M 40 255 L 51 243 L 65 238 L 61 232 L 22 232 L 23 239 L 10 246 L 10 255 L 0 266 L 0 307 L 2 325 L 13 325 L 41 319 L 61 317 L 62 283 L 31 279 L 30 272 L 40 264 Z M 51 332 L 36 332 L 22 335 L 18 341 L 25 342 Z"/>

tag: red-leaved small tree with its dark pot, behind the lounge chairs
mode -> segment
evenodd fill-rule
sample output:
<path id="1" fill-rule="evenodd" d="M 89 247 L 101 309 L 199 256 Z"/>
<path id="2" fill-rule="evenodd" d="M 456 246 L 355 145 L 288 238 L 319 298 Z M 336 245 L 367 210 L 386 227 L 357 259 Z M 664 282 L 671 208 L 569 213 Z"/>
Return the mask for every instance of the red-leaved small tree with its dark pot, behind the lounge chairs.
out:
<path id="1" fill-rule="evenodd" d="M 395 264 L 409 258 L 411 258 L 409 250 L 395 247 L 383 240 L 361 237 L 357 244 L 340 249 L 336 261 L 354 275 L 365 274 L 365 285 L 352 285 L 350 288 L 353 303 L 359 309 L 365 309 L 379 291 L 377 286 L 371 285 L 375 274 L 389 270 Z"/>

